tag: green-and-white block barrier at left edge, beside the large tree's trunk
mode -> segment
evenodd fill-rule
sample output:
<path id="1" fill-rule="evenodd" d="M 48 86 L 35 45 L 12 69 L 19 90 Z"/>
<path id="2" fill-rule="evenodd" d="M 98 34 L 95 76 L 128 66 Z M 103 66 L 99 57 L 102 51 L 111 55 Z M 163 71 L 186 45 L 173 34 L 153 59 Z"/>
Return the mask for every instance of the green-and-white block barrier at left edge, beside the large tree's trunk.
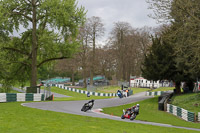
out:
<path id="1" fill-rule="evenodd" d="M 0 102 L 44 101 L 44 94 L 0 93 Z"/>

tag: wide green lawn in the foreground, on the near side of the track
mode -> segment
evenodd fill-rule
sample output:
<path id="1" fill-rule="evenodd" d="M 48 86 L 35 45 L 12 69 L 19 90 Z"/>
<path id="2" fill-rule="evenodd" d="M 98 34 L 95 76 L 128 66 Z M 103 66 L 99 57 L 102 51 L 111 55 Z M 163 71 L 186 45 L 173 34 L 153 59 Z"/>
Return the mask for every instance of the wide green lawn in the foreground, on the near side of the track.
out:
<path id="1" fill-rule="evenodd" d="M 127 123 L 0 103 L 1 133 L 196 133 L 184 129 Z M 142 114 L 141 114 L 142 115 Z"/>

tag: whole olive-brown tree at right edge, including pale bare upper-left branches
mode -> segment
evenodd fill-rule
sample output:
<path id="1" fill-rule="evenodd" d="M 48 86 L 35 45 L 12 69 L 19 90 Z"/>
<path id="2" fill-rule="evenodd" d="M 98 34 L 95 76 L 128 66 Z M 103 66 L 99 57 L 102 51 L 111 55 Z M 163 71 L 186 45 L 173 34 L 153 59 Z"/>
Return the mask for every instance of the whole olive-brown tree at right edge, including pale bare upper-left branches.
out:
<path id="1" fill-rule="evenodd" d="M 184 81 L 192 84 L 196 78 L 200 77 L 198 50 L 200 48 L 200 1 L 164 1 L 151 0 L 149 2 L 157 20 L 163 17 L 170 22 L 171 33 L 168 34 L 167 38 L 175 45 L 177 68 L 187 77 Z M 190 89 L 193 89 L 192 86 Z"/>

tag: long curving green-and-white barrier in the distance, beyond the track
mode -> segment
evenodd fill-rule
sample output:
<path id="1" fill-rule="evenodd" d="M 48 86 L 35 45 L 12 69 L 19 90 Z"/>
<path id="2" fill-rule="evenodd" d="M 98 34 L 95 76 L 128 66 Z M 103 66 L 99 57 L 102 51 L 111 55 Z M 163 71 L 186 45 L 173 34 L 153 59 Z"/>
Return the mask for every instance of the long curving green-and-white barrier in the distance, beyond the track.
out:
<path id="1" fill-rule="evenodd" d="M 53 86 L 53 84 L 50 84 L 50 86 Z M 81 93 L 81 94 L 87 94 L 89 92 L 90 95 L 94 95 L 94 96 L 107 96 L 107 97 L 116 97 L 117 96 L 116 93 L 97 93 L 97 92 L 91 92 L 91 91 L 84 91 L 84 90 L 79 90 L 79 89 L 64 86 L 64 84 L 55 84 L 55 86 L 58 88 L 61 88 L 61 89 L 65 89 L 68 91 L 73 91 L 73 92 L 77 92 L 77 93 Z"/>

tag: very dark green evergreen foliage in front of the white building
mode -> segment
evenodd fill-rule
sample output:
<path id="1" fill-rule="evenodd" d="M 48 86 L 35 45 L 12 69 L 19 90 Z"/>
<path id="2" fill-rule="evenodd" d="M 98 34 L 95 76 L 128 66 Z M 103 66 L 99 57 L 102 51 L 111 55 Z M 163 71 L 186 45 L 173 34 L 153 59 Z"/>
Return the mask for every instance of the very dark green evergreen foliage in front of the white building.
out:
<path id="1" fill-rule="evenodd" d="M 143 63 L 143 77 L 154 81 L 173 80 L 176 72 L 173 46 L 161 40 L 161 37 L 152 37 L 152 43 Z"/>

